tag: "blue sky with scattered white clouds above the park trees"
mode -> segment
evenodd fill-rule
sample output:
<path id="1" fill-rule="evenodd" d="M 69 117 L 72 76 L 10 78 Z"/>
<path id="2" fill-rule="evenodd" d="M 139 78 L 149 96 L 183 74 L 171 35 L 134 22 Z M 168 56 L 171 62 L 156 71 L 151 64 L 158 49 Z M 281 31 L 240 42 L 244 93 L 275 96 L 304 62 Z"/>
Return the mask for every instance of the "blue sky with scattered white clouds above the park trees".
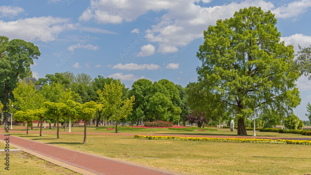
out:
<path id="1" fill-rule="evenodd" d="M 0 2 L 0 35 L 40 49 L 35 78 L 55 72 L 113 77 L 130 87 L 139 78 L 186 86 L 197 80 L 203 30 L 240 8 L 271 10 L 285 44 L 311 44 L 311 0 L 12 0 Z M 311 81 L 296 82 L 308 120 Z"/>

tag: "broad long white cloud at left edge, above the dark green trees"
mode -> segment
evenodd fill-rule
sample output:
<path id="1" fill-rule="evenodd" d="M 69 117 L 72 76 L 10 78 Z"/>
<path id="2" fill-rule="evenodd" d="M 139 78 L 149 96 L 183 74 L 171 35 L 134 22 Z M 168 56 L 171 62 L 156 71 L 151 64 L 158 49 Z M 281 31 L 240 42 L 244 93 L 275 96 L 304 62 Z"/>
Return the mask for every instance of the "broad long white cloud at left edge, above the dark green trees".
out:
<path id="1" fill-rule="evenodd" d="M 0 20 L 0 33 L 10 40 L 18 38 L 30 42 L 36 40 L 48 42 L 56 40 L 63 31 L 74 29 L 76 24 L 69 18 L 42 16 L 8 22 Z"/>

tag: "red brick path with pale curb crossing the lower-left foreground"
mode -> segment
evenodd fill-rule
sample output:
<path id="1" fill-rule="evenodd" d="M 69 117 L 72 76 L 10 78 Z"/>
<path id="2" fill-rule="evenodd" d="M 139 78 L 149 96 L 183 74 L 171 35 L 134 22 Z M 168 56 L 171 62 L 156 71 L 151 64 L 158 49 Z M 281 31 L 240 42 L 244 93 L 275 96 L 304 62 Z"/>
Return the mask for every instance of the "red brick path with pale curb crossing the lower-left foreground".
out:
<path id="1" fill-rule="evenodd" d="M 12 132 L 12 131 L 10 131 Z M 104 156 L 96 156 L 81 151 L 74 151 L 59 146 L 53 146 L 49 144 L 39 143 L 33 140 L 27 140 L 24 138 L 9 136 L 10 144 L 14 147 L 17 145 L 23 149 L 30 150 L 37 154 L 47 156 L 49 158 L 58 160 L 62 163 L 72 165 L 78 169 L 86 170 L 83 174 L 103 174 L 103 175 L 114 175 L 114 174 L 128 174 L 128 175 L 171 175 L 181 174 L 162 170 L 159 168 L 148 167 L 139 165 L 136 163 L 130 163 L 122 160 L 112 159 Z M 4 134 L 0 134 L 0 140 L 4 140 L 6 137 Z M 27 151 L 25 151 L 27 152 Z M 35 155 L 37 156 L 37 155 Z M 39 156 L 38 156 L 39 157 Z M 49 161 L 49 160 L 48 160 Z M 52 162 L 53 163 L 53 162 Z M 59 164 L 58 164 L 59 165 Z M 62 166 L 62 165 L 59 165 Z M 64 166 L 68 168 L 68 166 Z M 72 168 L 69 168 L 72 169 Z M 73 171 L 74 168 L 72 169 Z M 79 172 L 79 171 L 76 171 Z M 86 172 L 86 173 L 85 173 Z M 89 173 L 87 173 L 89 172 Z M 81 171 L 79 172 L 81 173 Z"/>

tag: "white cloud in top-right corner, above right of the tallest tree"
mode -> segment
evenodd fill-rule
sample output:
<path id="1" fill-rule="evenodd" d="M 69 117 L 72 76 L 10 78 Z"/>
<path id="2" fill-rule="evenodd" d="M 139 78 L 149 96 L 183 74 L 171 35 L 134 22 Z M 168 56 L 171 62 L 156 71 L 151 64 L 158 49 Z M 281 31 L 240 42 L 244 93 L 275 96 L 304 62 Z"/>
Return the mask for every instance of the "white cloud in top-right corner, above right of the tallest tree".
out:
<path id="1" fill-rule="evenodd" d="M 309 7 L 311 7 L 311 0 L 300 0 L 284 4 L 271 12 L 275 14 L 276 18 L 290 18 L 307 12 Z"/>

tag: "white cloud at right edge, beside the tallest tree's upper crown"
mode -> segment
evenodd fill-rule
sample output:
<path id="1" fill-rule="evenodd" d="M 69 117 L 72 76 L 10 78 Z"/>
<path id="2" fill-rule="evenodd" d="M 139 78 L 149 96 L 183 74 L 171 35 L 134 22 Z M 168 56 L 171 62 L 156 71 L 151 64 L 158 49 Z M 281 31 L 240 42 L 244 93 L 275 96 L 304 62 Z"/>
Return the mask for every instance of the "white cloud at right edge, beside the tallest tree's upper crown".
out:
<path id="1" fill-rule="evenodd" d="M 284 41 L 285 45 L 293 45 L 295 52 L 299 51 L 298 44 L 300 44 L 301 47 L 308 47 L 311 45 L 311 36 L 306 36 L 303 34 L 295 34 L 290 35 L 289 37 L 281 37 L 281 41 Z"/>

